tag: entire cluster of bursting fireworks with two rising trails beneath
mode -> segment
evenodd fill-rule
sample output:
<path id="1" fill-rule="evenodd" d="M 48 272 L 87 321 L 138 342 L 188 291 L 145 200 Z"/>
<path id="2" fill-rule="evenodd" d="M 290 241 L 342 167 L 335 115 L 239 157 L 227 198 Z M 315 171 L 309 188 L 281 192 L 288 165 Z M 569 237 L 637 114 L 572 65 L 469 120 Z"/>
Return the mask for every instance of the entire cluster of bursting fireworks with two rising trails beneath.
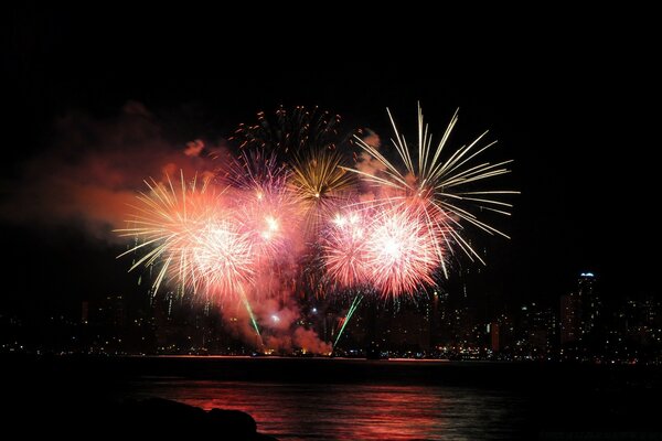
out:
<path id="1" fill-rule="evenodd" d="M 456 249 L 482 261 L 466 228 L 505 236 L 481 213 L 509 215 L 512 205 L 502 198 L 516 193 L 480 187 L 509 173 L 510 161 L 480 160 L 494 144 L 484 143 L 487 132 L 459 149 L 447 147 L 457 112 L 433 144 L 419 108 L 415 149 L 388 117 L 398 162 L 356 138 L 362 160 L 374 162 L 350 169 L 337 148 L 344 143 L 338 116 L 303 107 L 280 108 L 275 118 L 258 114 L 257 125 L 235 133 L 239 154 L 223 163 L 215 180 L 185 181 L 180 173 L 179 183 L 146 182 L 148 191 L 119 230 L 136 240 L 121 256 L 135 256 L 130 270 L 157 270 L 154 292 L 171 283 L 182 294 L 245 306 L 259 341 L 252 302 L 352 292 L 337 345 L 367 292 L 393 300 L 415 295 L 435 283 L 439 268 L 447 275 Z M 372 186 L 370 197 L 360 194 L 365 189 L 357 178 Z M 259 311 L 260 318 L 270 313 Z"/>

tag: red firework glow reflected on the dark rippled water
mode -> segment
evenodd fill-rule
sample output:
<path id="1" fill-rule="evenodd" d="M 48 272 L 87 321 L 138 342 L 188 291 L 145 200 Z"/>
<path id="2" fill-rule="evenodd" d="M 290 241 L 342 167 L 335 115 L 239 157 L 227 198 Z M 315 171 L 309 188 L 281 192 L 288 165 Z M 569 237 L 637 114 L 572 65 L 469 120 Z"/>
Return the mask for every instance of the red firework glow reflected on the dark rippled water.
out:
<path id="1" fill-rule="evenodd" d="M 281 440 L 440 439 L 448 429 L 445 400 L 419 386 L 168 381 L 142 395 L 242 410 Z"/>

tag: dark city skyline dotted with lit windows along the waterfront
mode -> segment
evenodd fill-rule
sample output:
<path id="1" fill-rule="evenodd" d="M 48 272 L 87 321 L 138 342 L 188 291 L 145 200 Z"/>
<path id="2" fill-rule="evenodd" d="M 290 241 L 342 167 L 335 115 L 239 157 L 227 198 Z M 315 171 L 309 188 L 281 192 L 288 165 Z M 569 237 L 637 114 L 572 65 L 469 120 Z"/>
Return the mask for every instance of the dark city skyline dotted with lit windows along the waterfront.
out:
<path id="1" fill-rule="evenodd" d="M 334 343 L 332 355 L 384 358 L 652 364 L 662 362 L 662 302 L 654 297 L 600 300 L 597 275 L 578 275 L 557 305 L 526 302 L 480 314 L 466 287 L 463 298 L 428 290 L 429 301 L 399 305 L 365 300 L 346 330 L 349 303 L 311 297 L 299 325 Z M 461 283 L 465 284 L 465 283 Z M 35 324 L 2 316 L 2 353 L 90 355 L 248 355 L 260 353 L 233 333 L 237 311 L 161 297 L 109 295 L 84 300 L 78 316 Z M 341 327 L 343 330 L 341 331 Z M 344 332 L 343 332 L 344 331 Z M 47 335 L 43 337 L 42 332 Z M 339 332 L 342 333 L 340 338 Z M 335 344 L 340 340 L 339 344 Z M 267 355 L 313 355 L 306 345 Z M 329 355 L 329 354 L 322 354 Z"/>

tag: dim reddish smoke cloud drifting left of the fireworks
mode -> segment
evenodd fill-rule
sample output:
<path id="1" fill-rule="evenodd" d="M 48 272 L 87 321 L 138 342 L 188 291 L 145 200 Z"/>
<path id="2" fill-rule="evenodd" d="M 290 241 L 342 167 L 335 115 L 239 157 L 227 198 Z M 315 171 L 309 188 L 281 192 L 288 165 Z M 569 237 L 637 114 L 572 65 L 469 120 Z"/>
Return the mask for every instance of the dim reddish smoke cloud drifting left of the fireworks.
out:
<path id="1" fill-rule="evenodd" d="M 128 206 L 143 180 L 164 181 L 205 173 L 214 164 L 201 140 L 178 146 L 142 104 L 127 103 L 118 116 L 96 119 L 71 112 L 55 122 L 52 147 L 22 169 L 15 189 L 0 204 L 6 222 L 83 225 L 96 238 L 117 240 Z"/>

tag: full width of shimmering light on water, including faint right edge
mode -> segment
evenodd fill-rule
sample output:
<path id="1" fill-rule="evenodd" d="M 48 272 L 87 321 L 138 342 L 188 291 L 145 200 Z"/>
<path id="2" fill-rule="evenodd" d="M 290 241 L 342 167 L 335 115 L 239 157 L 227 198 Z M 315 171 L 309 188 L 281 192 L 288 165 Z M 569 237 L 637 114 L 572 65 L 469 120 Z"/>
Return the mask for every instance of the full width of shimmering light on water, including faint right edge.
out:
<path id="1" fill-rule="evenodd" d="M 131 385 L 203 409 L 250 413 L 280 440 L 510 440 L 522 435 L 521 397 L 499 390 L 392 384 L 276 384 L 157 379 Z"/>

